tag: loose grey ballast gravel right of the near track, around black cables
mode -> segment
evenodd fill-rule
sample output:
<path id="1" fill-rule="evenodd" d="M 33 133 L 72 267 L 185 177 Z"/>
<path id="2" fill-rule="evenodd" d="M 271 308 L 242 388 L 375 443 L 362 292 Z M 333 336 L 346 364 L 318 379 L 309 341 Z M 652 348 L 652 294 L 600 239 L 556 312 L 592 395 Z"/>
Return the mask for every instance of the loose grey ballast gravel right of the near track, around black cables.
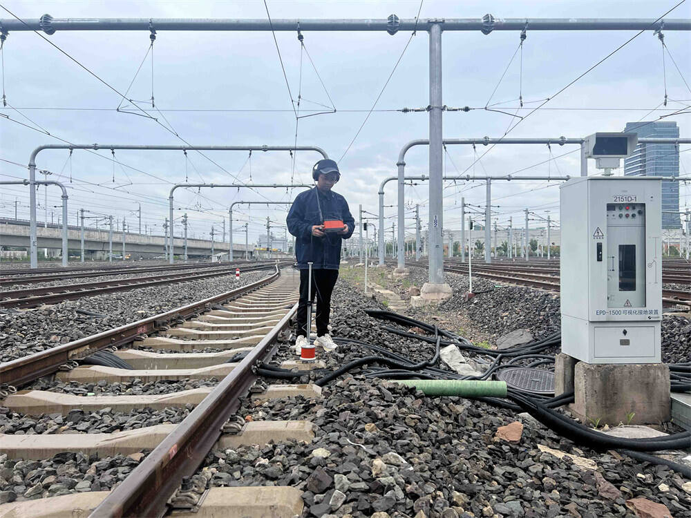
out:
<path id="1" fill-rule="evenodd" d="M 414 360 L 432 354 L 430 344 L 381 331 L 366 307 L 384 309 L 339 281 L 332 334 L 388 345 Z M 318 359 L 333 370 L 368 354 L 351 344 Z M 279 356 L 295 357 L 285 347 Z M 307 419 L 314 439 L 213 450 L 195 477 L 207 486 L 294 486 L 303 491 L 303 517 L 628 517 L 626 501 L 636 497 L 691 517 L 688 485 L 668 468 L 577 446 L 509 410 L 426 397 L 359 373 L 323 387 L 322 399 L 245 399 L 238 414 L 246 421 Z M 495 438 L 516 421 L 523 427 L 517 443 Z M 596 470 L 538 445 L 594 462 Z"/>

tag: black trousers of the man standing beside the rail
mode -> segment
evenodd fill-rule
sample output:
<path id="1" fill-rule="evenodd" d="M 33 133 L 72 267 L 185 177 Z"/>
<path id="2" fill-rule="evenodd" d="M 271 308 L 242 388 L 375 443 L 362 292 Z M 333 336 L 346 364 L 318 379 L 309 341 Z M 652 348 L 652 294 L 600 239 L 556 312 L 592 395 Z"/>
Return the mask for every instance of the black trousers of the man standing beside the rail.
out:
<path id="1" fill-rule="evenodd" d="M 297 325 L 295 334 L 307 336 L 307 301 L 312 300 L 312 318 L 316 320 L 316 336 L 323 336 L 329 332 L 329 317 L 331 316 L 331 294 L 339 278 L 338 270 L 312 269 L 312 294 L 307 294 L 307 280 L 309 270 L 300 270 L 300 301 L 298 303 Z M 314 311 L 314 295 L 316 294 L 316 313 Z"/>

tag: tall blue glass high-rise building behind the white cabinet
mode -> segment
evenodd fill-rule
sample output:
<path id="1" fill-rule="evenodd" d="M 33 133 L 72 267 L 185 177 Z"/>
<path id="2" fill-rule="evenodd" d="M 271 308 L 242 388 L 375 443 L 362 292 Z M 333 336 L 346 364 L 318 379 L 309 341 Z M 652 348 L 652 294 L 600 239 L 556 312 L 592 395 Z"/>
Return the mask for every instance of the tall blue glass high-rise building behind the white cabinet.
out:
<path id="1" fill-rule="evenodd" d="M 627 122 L 624 131 L 638 133 L 638 138 L 679 138 L 679 126 L 673 121 Z M 625 176 L 679 177 L 679 146 L 676 144 L 638 144 L 624 159 Z M 662 228 L 679 229 L 679 182 L 662 181 Z"/>

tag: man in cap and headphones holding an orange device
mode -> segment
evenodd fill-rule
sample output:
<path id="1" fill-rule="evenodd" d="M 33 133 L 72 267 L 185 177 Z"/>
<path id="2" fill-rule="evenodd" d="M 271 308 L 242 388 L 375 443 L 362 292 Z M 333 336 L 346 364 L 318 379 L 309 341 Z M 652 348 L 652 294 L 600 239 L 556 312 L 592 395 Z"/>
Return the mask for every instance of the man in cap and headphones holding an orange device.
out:
<path id="1" fill-rule="evenodd" d="M 296 196 L 286 223 L 295 236 L 295 256 L 300 270 L 300 301 L 296 325 L 296 350 L 307 345 L 307 302 L 316 294 L 316 340 L 325 351 L 337 345 L 329 336 L 331 294 L 339 278 L 341 240 L 349 239 L 355 229 L 355 220 L 348 202 L 331 189 L 341 179 L 339 166 L 333 160 L 319 160 L 312 168 L 314 189 Z M 312 262 L 312 294 L 307 294 L 309 265 Z"/>

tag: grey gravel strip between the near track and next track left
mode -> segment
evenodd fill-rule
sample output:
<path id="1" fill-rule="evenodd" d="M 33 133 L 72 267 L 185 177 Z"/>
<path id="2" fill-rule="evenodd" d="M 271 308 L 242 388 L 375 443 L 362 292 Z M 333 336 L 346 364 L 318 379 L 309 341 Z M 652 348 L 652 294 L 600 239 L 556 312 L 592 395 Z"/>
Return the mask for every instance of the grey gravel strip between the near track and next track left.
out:
<path id="1" fill-rule="evenodd" d="M 239 281 L 235 280 L 234 274 L 229 274 L 0 313 L 0 363 L 231 291 L 265 278 L 270 272 L 247 272 L 240 276 Z M 77 309 L 105 316 L 79 314 Z"/>

